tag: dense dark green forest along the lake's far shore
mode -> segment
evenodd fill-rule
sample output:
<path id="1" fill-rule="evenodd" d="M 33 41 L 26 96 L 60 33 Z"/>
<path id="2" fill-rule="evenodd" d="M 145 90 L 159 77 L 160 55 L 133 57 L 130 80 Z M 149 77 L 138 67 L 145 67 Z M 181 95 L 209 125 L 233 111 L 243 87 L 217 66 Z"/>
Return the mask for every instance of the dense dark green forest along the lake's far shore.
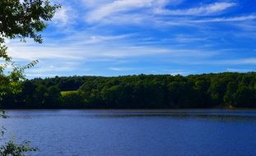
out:
<path id="1" fill-rule="evenodd" d="M 256 72 L 25 80 L 2 108 L 256 108 Z"/>

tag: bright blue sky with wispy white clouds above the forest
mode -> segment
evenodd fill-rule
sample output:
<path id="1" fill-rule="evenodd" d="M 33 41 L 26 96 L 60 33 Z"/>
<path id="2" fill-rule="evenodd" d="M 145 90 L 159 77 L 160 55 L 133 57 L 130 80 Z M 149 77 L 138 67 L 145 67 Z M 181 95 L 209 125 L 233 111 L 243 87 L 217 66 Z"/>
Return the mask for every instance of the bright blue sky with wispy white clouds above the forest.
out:
<path id="1" fill-rule="evenodd" d="M 255 0 L 52 0 L 43 44 L 7 40 L 28 78 L 256 71 Z"/>

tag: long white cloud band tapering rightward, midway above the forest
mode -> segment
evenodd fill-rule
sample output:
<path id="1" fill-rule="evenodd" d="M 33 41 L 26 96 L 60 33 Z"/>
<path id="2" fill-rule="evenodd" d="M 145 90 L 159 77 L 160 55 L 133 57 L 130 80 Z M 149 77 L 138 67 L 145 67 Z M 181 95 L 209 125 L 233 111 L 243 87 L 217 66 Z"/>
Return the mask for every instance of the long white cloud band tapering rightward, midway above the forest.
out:
<path id="1" fill-rule="evenodd" d="M 105 60 L 113 62 L 114 59 L 126 59 L 131 57 L 167 55 L 171 57 L 211 57 L 214 52 L 205 53 L 202 50 L 190 50 L 180 48 L 158 48 L 155 46 L 138 46 L 129 43 L 127 37 L 130 34 L 116 36 L 92 35 L 88 40 L 86 36 L 71 40 L 56 39 L 47 40 L 44 45 L 23 44 L 11 41 L 8 44 L 9 53 L 15 60 L 31 61 L 44 60 L 46 68 L 54 71 L 54 67 L 61 67 L 64 62 L 98 62 Z M 86 40 L 87 39 L 87 40 Z M 119 42 L 116 42 L 116 41 Z M 58 65 L 53 65 L 58 62 Z M 65 65 L 66 66 L 66 65 Z"/>

